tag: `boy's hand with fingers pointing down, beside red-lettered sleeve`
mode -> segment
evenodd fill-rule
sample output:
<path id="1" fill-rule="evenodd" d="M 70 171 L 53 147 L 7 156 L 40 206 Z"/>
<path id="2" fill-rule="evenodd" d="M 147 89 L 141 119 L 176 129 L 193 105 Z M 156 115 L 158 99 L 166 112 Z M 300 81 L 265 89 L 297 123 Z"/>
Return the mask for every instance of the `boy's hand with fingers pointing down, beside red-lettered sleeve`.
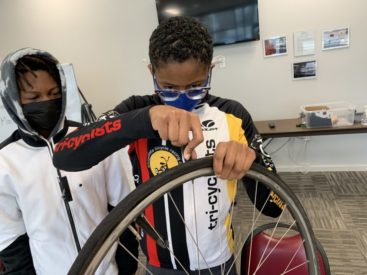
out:
<path id="1" fill-rule="evenodd" d="M 167 105 L 153 106 L 149 114 L 152 127 L 161 139 L 169 140 L 174 146 L 186 145 L 184 158 L 196 158 L 194 149 L 204 139 L 196 114 Z"/>

